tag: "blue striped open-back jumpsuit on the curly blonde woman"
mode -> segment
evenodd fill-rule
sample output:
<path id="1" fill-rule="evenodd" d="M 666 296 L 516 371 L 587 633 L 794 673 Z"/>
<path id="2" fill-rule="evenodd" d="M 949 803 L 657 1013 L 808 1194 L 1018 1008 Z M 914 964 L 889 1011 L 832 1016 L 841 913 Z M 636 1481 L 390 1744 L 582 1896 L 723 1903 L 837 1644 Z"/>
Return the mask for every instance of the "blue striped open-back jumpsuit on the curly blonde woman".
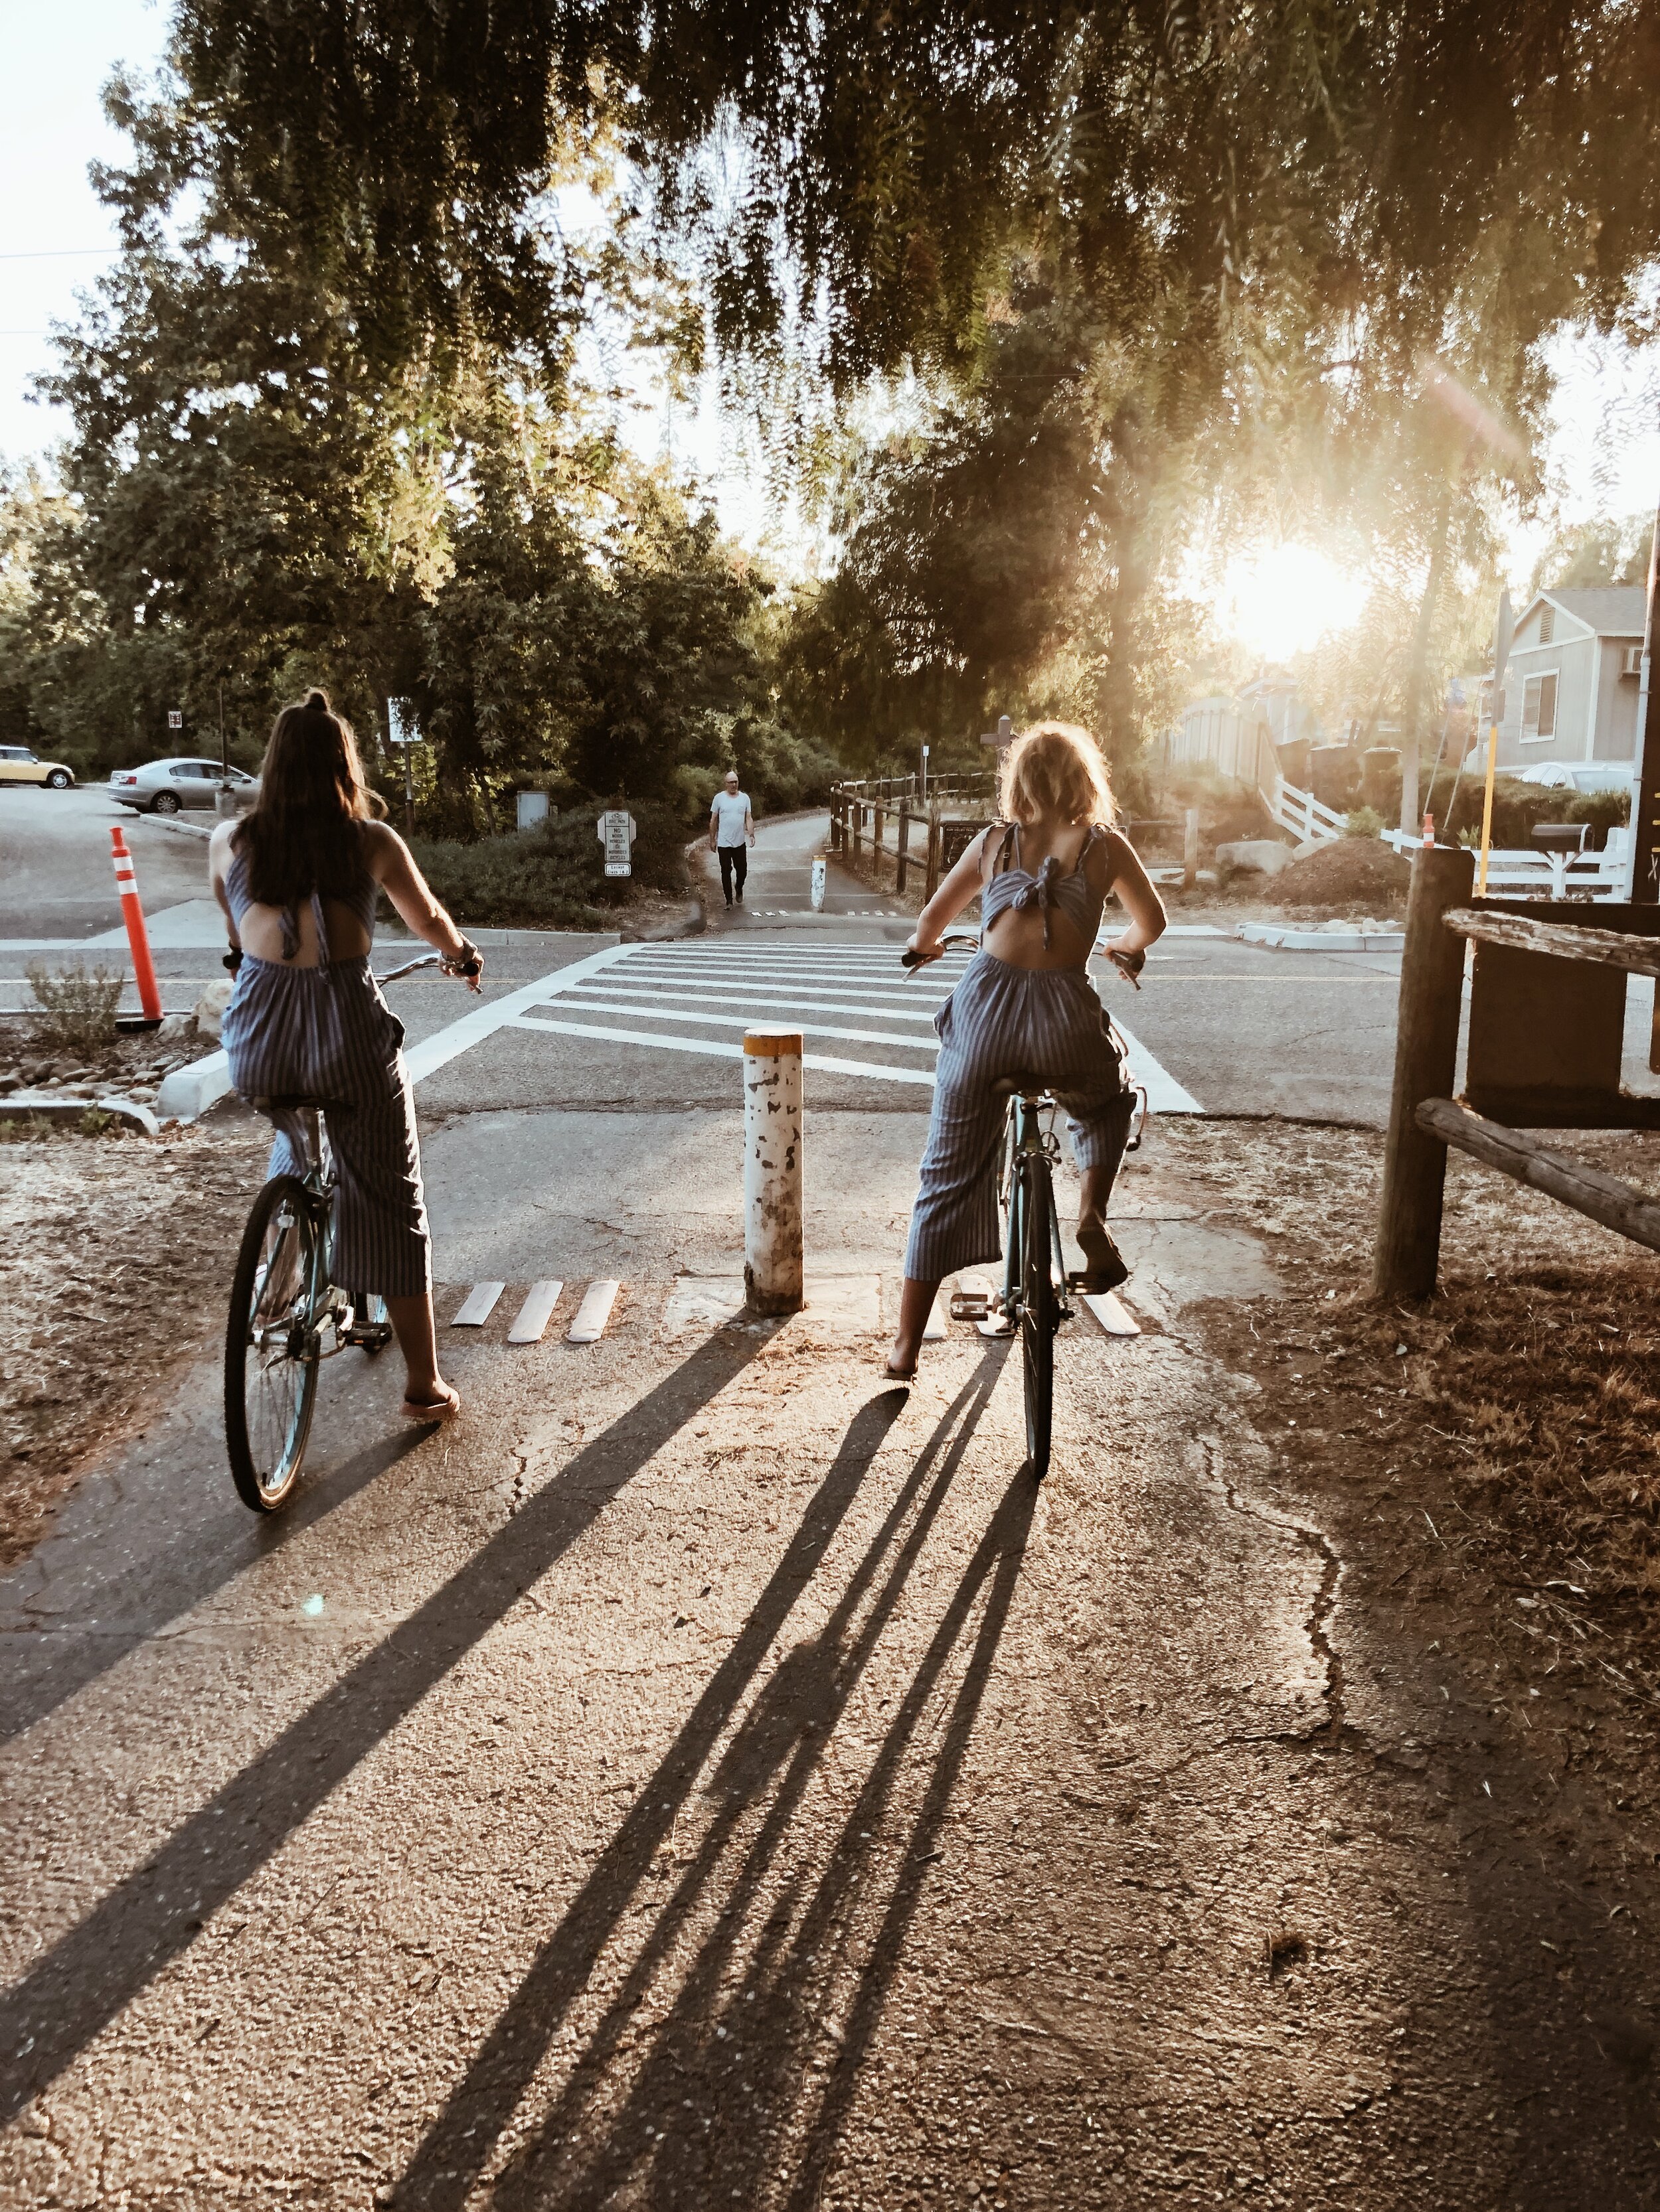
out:
<path id="1" fill-rule="evenodd" d="M 1034 876 L 1003 865 L 1009 845 L 1016 863 L 1020 849 L 1018 830 L 1005 830 L 998 869 L 981 891 L 981 940 L 998 914 L 1020 907 L 1042 911 L 1047 945 L 1049 909 L 1058 907 L 1093 945 L 1104 900 L 1091 889 L 1085 860 L 1104 834 L 1089 836 L 1069 876 L 1054 858 Z M 1080 1168 L 1118 1170 L 1135 1110 L 1124 1046 L 1087 967 L 1023 969 L 978 951 L 934 1015 L 934 1029 L 941 1040 L 934 1115 L 905 1250 L 905 1274 L 921 1283 L 1003 1256 L 996 1181 L 1009 1102 L 1000 1082 L 1036 1077 L 1056 1093 Z"/>

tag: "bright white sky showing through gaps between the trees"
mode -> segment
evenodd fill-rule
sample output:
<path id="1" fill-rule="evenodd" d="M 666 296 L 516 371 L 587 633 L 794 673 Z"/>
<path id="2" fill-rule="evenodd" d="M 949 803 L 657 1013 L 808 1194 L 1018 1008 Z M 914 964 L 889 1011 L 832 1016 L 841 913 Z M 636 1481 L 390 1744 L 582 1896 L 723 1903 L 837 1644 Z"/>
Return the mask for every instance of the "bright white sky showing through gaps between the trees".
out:
<path id="1" fill-rule="evenodd" d="M 29 398 L 29 378 L 51 367 L 49 325 L 75 314 L 113 248 L 113 226 L 86 179 L 89 161 L 117 161 L 124 139 L 104 122 L 100 91 L 117 62 L 146 71 L 166 38 L 166 0 L 11 0 L 0 27 L 0 69 L 13 86 L 0 133 L 0 453 L 18 460 L 69 429 Z M 18 88 L 27 86 L 27 97 Z M 1625 515 L 1660 500 L 1660 354 L 1631 356 L 1583 334 L 1554 341 L 1558 372 L 1545 453 L 1567 522 Z M 715 405 L 713 380 L 697 405 L 668 409 L 642 389 L 629 438 L 649 458 L 668 453 L 713 491 L 724 529 L 779 553 L 792 518 L 755 489 L 741 434 Z M 1512 588 L 1521 588 L 1552 520 L 1512 540 Z M 1359 582 L 1319 566 L 1308 549 L 1279 549 L 1231 566 L 1233 626 L 1268 659 L 1317 641 L 1341 622 Z M 1310 635 L 1310 626 L 1313 635 Z"/>

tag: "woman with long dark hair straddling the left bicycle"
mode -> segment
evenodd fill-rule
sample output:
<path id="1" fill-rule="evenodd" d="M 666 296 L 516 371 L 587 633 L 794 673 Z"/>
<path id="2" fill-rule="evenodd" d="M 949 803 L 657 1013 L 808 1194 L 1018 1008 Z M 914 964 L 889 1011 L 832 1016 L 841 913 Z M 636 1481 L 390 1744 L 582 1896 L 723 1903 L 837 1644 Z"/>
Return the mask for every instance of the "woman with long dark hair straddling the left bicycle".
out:
<path id="1" fill-rule="evenodd" d="M 328 1099 L 334 1150 L 334 1281 L 378 1294 L 409 1369 L 403 1411 L 447 1420 L 460 1394 L 438 1374 L 432 1327 L 432 1239 L 421 1188 L 414 1097 L 398 1022 L 370 973 L 374 902 L 385 891 L 438 953 L 478 989 L 478 949 L 427 889 L 409 847 L 376 816 L 352 726 L 308 692 L 277 717 L 259 770 L 259 803 L 219 823 L 208 845 L 212 894 L 230 922 L 237 987 L 221 1042 L 248 1097 Z M 305 1126 L 274 1108 L 270 1175 L 305 1175 Z"/>

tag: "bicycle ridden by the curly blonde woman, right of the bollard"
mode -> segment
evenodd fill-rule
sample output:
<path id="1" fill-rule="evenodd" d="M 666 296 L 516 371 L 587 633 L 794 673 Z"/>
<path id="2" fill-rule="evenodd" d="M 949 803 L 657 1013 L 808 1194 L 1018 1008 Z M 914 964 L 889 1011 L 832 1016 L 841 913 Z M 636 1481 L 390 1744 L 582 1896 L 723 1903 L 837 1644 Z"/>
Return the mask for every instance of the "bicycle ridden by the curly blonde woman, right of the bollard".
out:
<path id="1" fill-rule="evenodd" d="M 950 931 L 938 940 L 938 953 L 901 953 L 901 962 L 916 973 L 927 960 L 938 960 L 947 947 L 967 945 L 978 949 L 978 936 Z M 1133 967 L 1118 956 L 1113 964 L 1140 989 Z M 998 1206 L 1005 1217 L 1003 1234 L 1003 1294 L 998 1298 L 974 1298 L 958 1292 L 952 1298 L 954 1321 L 992 1318 L 996 1307 L 1003 1314 L 1007 1336 L 1020 1336 L 1020 1367 L 1027 1416 L 1027 1469 L 1034 1482 L 1049 1473 L 1049 1436 L 1054 1425 L 1056 1396 L 1056 1336 L 1065 1321 L 1073 1321 L 1078 1307 L 1067 1296 L 1076 1287 L 1076 1276 L 1067 1274 L 1067 1254 L 1060 1243 L 1060 1214 L 1056 1210 L 1054 1164 L 1060 1159 L 1060 1139 L 1054 1117 L 1060 1099 L 1036 1075 L 1009 1077 L 998 1084 L 1009 1099 L 1009 1115 L 1003 1141 L 1003 1170 L 998 1175 Z M 1142 1121 L 1147 1119 L 1147 1093 L 1142 1093 Z M 1124 1146 L 1133 1152 L 1142 1141 L 1140 1128 Z"/>

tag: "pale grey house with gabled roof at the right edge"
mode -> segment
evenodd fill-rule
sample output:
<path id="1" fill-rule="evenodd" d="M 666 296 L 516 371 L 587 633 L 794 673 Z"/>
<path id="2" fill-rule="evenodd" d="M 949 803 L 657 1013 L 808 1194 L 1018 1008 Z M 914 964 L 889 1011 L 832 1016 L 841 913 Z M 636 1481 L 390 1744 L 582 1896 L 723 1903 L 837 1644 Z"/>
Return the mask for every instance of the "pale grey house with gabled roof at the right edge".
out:
<path id="1" fill-rule="evenodd" d="M 1498 765 L 1633 763 L 1647 597 L 1640 584 L 1540 591 L 1523 611 L 1505 668 Z M 1485 748 L 1492 681 L 1472 739 Z"/>

